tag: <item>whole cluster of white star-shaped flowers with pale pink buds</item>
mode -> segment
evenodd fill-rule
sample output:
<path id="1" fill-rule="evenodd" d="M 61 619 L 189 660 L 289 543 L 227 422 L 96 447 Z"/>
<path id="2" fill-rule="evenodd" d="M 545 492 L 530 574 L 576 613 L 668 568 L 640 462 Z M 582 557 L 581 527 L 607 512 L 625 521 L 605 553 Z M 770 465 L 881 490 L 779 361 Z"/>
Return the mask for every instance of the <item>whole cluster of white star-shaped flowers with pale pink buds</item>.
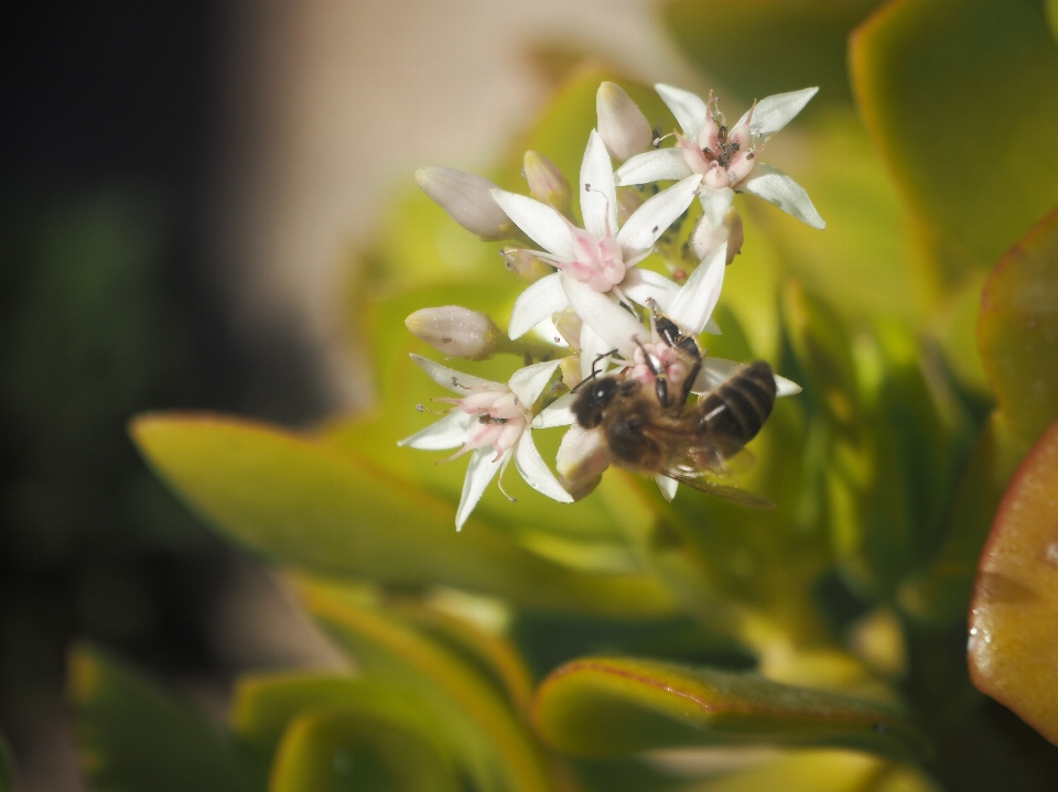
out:
<path id="1" fill-rule="evenodd" d="M 503 383 L 413 356 L 434 382 L 458 395 L 438 399 L 452 405 L 444 417 L 401 441 L 428 451 L 457 448 L 450 458 L 471 454 L 457 529 L 497 474 L 501 481 L 511 459 L 532 488 L 555 500 L 572 502 L 594 488 L 611 464 L 609 452 L 598 430 L 576 424 L 571 408 L 573 389 L 596 376 L 600 367 L 624 367 L 626 376 L 640 380 L 663 370 L 672 384 L 685 381 L 685 365 L 652 332 L 650 311 L 644 308 L 663 312 L 688 335 L 720 333 L 713 308 L 726 265 L 743 243 L 736 193 L 764 198 L 823 228 L 805 189 L 759 162 L 768 140 L 800 112 L 816 88 L 755 102 L 731 128 L 712 94 L 703 101 L 667 85 L 656 90 L 680 126 L 680 131 L 658 139 L 624 90 L 613 83 L 600 86 L 597 127 L 589 135 L 575 191 L 547 158 L 532 151 L 525 156 L 531 197 L 446 167 L 423 167 L 415 174 L 419 186 L 467 230 L 486 240 L 536 246 L 504 250 L 507 267 L 529 282 L 515 302 L 506 336 L 488 316 L 456 306 L 408 317 L 413 334 L 449 357 L 482 360 L 507 351 L 529 364 L 542 360 Z M 662 145 L 669 139 L 674 144 Z M 663 189 L 644 187 L 671 182 Z M 574 192 L 581 225 L 574 221 Z M 702 213 L 688 249 L 698 264 L 685 281 L 638 267 L 689 214 L 695 198 Z M 540 327 L 563 346 L 541 351 L 541 345 L 519 341 Z M 738 366 L 704 357 L 692 392 L 708 392 Z M 562 390 L 568 392 L 555 398 Z M 776 390 L 788 395 L 799 388 L 776 377 Z M 559 448 L 557 477 L 537 451 L 532 431 L 563 425 L 570 428 Z M 659 476 L 658 484 L 667 498 L 674 496 L 673 479 Z"/>

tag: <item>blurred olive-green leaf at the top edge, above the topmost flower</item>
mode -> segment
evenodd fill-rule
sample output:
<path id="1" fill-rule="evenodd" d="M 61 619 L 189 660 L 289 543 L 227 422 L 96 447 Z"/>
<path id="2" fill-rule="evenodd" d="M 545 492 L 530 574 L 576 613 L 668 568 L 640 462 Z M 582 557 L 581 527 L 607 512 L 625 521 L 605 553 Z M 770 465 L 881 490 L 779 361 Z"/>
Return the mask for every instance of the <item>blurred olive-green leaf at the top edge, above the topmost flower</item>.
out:
<path id="1" fill-rule="evenodd" d="M 813 104 L 830 104 L 851 99 L 845 39 L 878 2 L 743 0 L 733 12 L 722 0 L 674 0 L 663 20 L 695 66 L 744 99 L 818 85 Z"/>

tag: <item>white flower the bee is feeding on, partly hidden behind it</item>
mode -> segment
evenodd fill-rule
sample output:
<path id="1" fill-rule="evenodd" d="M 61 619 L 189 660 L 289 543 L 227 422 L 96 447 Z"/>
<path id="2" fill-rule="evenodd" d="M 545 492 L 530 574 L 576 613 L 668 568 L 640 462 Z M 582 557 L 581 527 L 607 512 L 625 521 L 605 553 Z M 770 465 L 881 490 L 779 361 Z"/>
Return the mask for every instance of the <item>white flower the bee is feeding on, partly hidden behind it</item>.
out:
<path id="1" fill-rule="evenodd" d="M 674 322 L 687 335 L 698 336 L 710 324 L 713 308 L 720 300 L 721 287 L 726 270 L 726 243 L 721 243 L 698 267 L 687 283 L 678 291 L 671 302 L 665 306 L 666 316 Z M 651 381 L 654 371 L 663 371 L 672 384 L 679 384 L 690 373 L 685 364 L 654 333 L 644 327 L 631 313 L 615 304 L 606 295 L 575 284 L 569 290 L 573 310 L 597 337 L 598 351 L 581 351 L 583 368 L 591 367 L 598 355 L 616 351 L 630 366 L 629 376 Z M 661 307 L 661 306 L 659 306 Z M 650 366 L 647 366 L 647 356 Z M 589 361 L 585 366 L 585 361 Z M 693 393 L 705 393 L 723 383 L 742 364 L 723 358 L 704 356 L 702 365 L 691 388 Z M 582 376 L 589 376 L 589 372 Z M 786 397 L 799 393 L 801 388 L 785 377 L 775 376 L 776 395 Z M 568 393 L 557 399 L 533 420 L 536 428 L 574 424 L 573 402 L 576 395 Z M 576 430 L 576 432 L 574 432 Z M 562 443 L 562 459 L 559 473 L 570 487 L 580 495 L 592 477 L 597 476 L 606 466 L 607 458 L 601 455 L 598 436 L 586 436 L 600 430 L 585 431 L 573 426 Z M 676 495 L 677 482 L 666 476 L 656 477 L 662 495 L 671 500 Z M 590 490 L 589 490 L 590 491 Z"/>

